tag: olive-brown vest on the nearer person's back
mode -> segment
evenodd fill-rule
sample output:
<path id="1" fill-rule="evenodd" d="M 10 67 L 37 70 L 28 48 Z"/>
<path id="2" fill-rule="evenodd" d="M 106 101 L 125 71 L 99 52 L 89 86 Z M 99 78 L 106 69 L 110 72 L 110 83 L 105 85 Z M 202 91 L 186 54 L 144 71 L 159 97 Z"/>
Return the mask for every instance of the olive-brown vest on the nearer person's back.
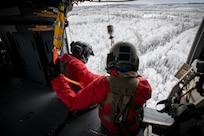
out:
<path id="1" fill-rule="evenodd" d="M 110 92 L 107 99 L 101 103 L 99 108 L 103 108 L 110 102 L 112 107 L 110 116 L 101 114 L 100 116 L 106 121 L 111 122 L 114 126 L 127 127 L 143 119 L 143 107 L 135 103 L 135 91 L 139 80 L 135 77 L 123 77 L 110 75 L 108 78 Z M 129 107 L 135 109 L 137 117 L 127 120 Z"/>

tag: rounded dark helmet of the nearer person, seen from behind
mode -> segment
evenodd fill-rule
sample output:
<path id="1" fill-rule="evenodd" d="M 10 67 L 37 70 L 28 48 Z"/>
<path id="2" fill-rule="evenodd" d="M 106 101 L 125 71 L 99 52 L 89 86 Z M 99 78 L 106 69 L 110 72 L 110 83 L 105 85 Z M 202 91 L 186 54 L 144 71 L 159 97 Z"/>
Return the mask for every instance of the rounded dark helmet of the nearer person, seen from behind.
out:
<path id="1" fill-rule="evenodd" d="M 114 44 L 107 55 L 106 70 L 117 69 L 121 72 L 137 71 L 139 58 L 136 48 L 129 42 Z"/>

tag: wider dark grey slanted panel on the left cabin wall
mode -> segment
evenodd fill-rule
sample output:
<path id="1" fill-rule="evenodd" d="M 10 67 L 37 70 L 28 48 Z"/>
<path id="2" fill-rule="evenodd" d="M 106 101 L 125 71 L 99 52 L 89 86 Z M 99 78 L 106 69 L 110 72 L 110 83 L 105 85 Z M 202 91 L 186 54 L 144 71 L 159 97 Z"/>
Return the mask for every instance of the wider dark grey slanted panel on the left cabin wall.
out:
<path id="1" fill-rule="evenodd" d="M 18 32 L 13 35 L 27 76 L 34 81 L 46 84 L 46 77 L 33 34 L 31 32 Z"/>

